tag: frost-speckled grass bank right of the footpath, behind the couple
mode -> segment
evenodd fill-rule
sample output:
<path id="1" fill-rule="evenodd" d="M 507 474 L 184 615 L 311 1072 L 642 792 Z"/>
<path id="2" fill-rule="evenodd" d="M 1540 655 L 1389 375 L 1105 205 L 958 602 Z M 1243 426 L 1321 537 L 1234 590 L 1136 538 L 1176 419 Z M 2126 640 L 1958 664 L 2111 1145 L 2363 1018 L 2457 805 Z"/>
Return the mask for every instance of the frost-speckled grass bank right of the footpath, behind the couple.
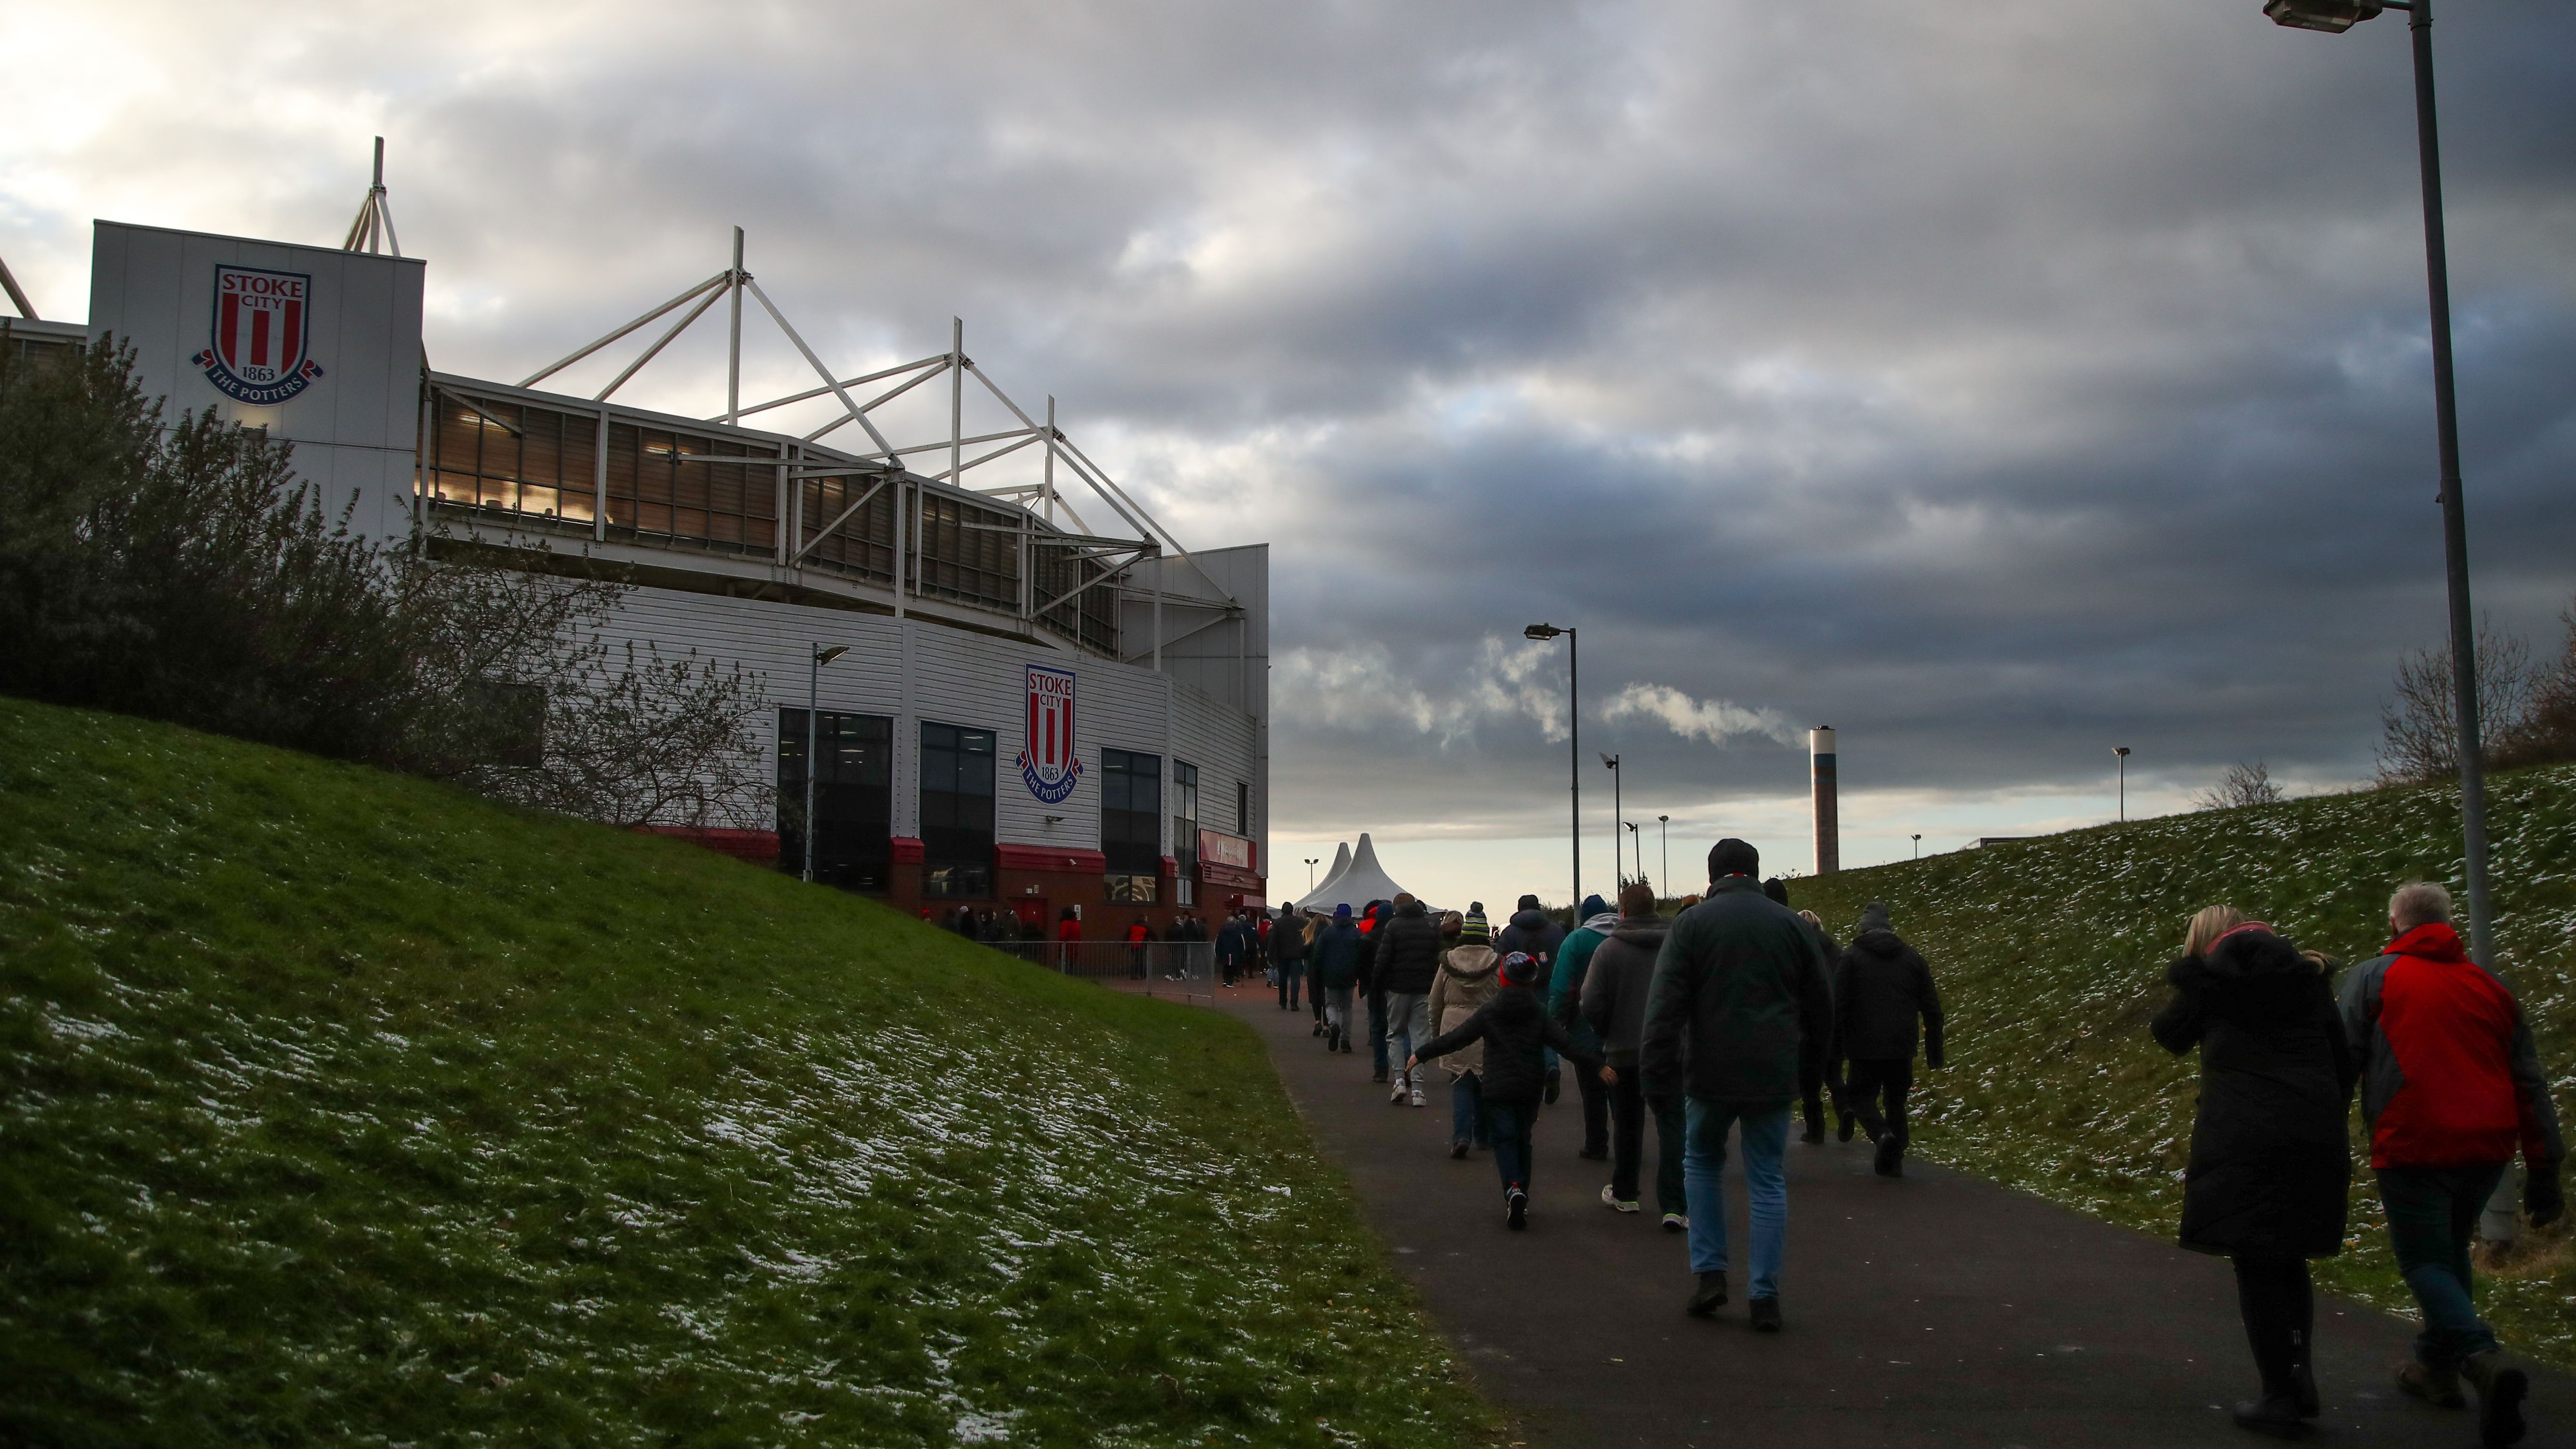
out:
<path id="1" fill-rule="evenodd" d="M 2576 768 L 2488 781 L 2496 941 L 2506 980 L 2576 1109 Z M 2148 1036 L 2192 910 L 2218 900 L 2300 946 L 2362 962 L 2385 944 L 2388 892 L 2460 882 L 2458 789 L 2385 789 L 2169 815 L 1790 882 L 1837 938 L 1883 900 L 1932 962 L 1950 1070 L 1922 1073 L 1924 1155 L 2066 1207 L 2172 1235 L 2182 1217 L 2197 1057 Z M 2576 1132 L 2576 1119 L 2568 1122 Z M 2354 1111 L 2354 1147 L 2367 1150 Z M 2411 1312 L 2357 1158 L 2352 1235 L 2321 1263 L 2334 1292 Z M 2524 1351 L 2576 1366 L 2576 1256 L 2537 1235 L 2481 1281 Z"/>

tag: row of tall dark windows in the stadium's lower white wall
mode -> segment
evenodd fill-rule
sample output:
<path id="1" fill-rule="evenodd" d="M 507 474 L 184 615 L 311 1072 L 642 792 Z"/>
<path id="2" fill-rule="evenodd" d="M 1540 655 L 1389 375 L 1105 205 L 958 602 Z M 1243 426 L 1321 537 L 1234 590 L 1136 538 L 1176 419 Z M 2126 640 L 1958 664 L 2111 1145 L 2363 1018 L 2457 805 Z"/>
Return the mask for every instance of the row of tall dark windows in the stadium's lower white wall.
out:
<path id="1" fill-rule="evenodd" d="M 819 761 L 806 781 L 806 740 Z M 994 758 L 992 730 L 922 722 L 922 895 L 992 895 Z M 848 890 L 886 890 L 894 838 L 894 719 L 832 709 L 806 719 L 778 712 L 778 866 L 806 866 L 811 797 L 814 879 Z M 1252 833 L 1252 784 L 1234 784 L 1234 828 Z M 1198 766 L 1172 761 L 1172 843 L 1180 900 L 1198 905 Z M 1100 853 L 1108 897 L 1151 905 L 1162 882 L 1162 755 L 1100 750 Z"/>

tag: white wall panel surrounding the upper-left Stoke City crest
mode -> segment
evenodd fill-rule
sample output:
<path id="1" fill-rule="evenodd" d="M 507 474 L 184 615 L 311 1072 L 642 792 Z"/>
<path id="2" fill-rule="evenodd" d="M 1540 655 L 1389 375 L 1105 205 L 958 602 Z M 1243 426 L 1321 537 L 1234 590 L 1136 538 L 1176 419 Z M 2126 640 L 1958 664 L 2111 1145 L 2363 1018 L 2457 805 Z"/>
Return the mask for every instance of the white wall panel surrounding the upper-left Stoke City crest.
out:
<path id="1" fill-rule="evenodd" d="M 196 356 L 214 345 L 219 266 L 312 278 L 307 356 L 322 369 L 286 402 L 250 405 L 219 392 Z M 296 472 L 322 490 L 325 511 L 361 534 L 399 539 L 412 529 L 412 456 L 420 443 L 417 258 L 211 237 L 98 222 L 90 242 L 90 338 L 134 345 L 134 382 L 162 400 L 162 418 L 216 413 L 265 425 L 296 443 Z"/>

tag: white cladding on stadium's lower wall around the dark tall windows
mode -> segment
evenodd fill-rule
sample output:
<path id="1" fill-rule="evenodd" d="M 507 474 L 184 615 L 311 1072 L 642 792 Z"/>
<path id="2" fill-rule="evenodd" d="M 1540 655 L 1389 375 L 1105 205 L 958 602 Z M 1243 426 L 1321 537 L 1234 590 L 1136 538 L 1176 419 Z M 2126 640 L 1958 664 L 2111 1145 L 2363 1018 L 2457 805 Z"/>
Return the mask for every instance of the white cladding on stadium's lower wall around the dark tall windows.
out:
<path id="1" fill-rule="evenodd" d="M 1164 758 L 1164 833 L 1170 835 L 1170 761 L 1200 768 L 1206 825 L 1234 830 L 1234 781 L 1262 794 L 1255 724 L 1206 694 L 1154 670 L 1015 645 L 963 629 L 639 588 L 608 624 L 613 645 L 654 645 L 662 657 L 696 652 L 719 665 L 739 663 L 762 676 L 768 704 L 757 722 L 762 773 L 778 771 L 778 709 L 804 709 L 809 650 L 848 645 L 850 652 L 822 670 L 824 709 L 886 714 L 894 719 L 894 833 L 920 833 L 920 727 L 963 724 L 994 732 L 994 838 L 1012 846 L 1100 848 L 1100 750 L 1141 750 Z M 909 652 L 909 668 L 907 668 Z M 1020 779 L 1025 748 L 1028 665 L 1074 670 L 1074 743 L 1082 784 L 1059 804 L 1046 804 Z M 1046 817 L 1061 817 L 1048 825 Z M 773 828 L 775 817 L 747 825 Z M 1170 838 L 1164 853 L 1172 851 Z M 1262 861 L 1267 871 L 1267 861 Z"/>

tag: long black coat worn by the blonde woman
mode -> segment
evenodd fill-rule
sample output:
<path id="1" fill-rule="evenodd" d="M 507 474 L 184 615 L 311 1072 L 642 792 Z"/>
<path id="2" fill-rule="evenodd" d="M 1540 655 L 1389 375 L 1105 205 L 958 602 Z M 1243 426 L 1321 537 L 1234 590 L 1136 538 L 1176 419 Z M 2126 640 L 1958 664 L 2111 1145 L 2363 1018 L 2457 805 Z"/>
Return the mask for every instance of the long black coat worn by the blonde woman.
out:
<path id="1" fill-rule="evenodd" d="M 2200 1114 L 2182 1176 L 2182 1245 L 2331 1258 L 2344 1248 L 2352 1044 L 2326 975 L 2267 928 L 2174 962 L 2156 1042 L 2200 1047 Z"/>

